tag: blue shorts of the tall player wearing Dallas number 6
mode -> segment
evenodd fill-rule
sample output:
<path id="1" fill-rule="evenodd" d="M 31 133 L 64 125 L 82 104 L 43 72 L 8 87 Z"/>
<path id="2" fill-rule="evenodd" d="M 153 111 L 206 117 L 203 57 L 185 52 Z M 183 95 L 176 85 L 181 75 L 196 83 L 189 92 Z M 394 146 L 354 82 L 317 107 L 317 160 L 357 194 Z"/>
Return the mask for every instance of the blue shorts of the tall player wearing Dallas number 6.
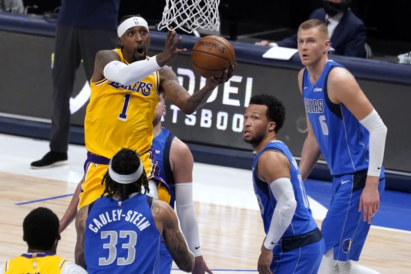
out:
<path id="1" fill-rule="evenodd" d="M 370 225 L 363 221 L 363 212 L 358 212 L 367 171 L 335 176 L 330 208 L 322 221 L 321 232 L 325 251 L 334 249 L 334 260 L 358 261 L 363 250 Z M 381 171 L 378 192 L 385 188 L 384 170 Z"/>

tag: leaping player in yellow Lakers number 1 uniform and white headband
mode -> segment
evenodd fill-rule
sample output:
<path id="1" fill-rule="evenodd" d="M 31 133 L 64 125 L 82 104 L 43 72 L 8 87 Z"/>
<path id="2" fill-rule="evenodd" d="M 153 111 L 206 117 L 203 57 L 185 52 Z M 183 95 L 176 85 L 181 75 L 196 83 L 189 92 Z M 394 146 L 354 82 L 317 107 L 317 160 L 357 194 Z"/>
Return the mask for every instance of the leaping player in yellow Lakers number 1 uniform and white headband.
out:
<path id="1" fill-rule="evenodd" d="M 136 150 L 150 180 L 150 195 L 169 201 L 165 183 L 154 178 L 156 166 L 150 152 L 158 91 L 184 113 L 191 114 L 204 105 L 212 91 L 228 81 L 235 65 L 223 77 L 206 79 L 206 85 L 190 95 L 175 72 L 166 66 L 185 48 L 177 48 L 183 39 L 174 40 L 176 32 L 168 31 L 162 52 L 148 57 L 150 32 L 140 16 L 126 16 L 117 28 L 121 49 L 97 52 L 91 78 L 91 97 L 85 118 L 85 141 L 88 159 L 85 175 L 79 183 L 68 210 L 60 223 L 63 231 L 74 219 L 76 208 L 88 205 L 103 193 L 101 185 L 111 157 L 121 148 Z M 163 187 L 165 188 L 163 188 Z M 80 197 L 80 199 L 79 199 Z"/>

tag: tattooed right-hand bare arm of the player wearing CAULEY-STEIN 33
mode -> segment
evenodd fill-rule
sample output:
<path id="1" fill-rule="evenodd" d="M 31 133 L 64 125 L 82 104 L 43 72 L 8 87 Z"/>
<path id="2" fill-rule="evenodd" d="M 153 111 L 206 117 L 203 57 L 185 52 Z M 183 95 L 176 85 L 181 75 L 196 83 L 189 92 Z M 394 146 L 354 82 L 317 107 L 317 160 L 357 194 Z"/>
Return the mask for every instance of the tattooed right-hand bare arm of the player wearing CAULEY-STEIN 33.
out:
<path id="1" fill-rule="evenodd" d="M 191 272 L 194 267 L 194 255 L 188 251 L 173 208 L 163 201 L 153 199 L 151 212 L 171 257 L 182 271 Z"/>

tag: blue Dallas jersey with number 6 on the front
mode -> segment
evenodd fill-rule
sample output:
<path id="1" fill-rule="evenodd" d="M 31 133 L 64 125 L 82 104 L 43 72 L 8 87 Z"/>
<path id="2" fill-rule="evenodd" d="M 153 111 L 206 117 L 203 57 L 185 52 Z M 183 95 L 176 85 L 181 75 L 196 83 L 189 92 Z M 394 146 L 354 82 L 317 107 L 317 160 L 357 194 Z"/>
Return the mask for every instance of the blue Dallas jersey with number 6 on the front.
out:
<path id="1" fill-rule="evenodd" d="M 368 169 L 369 133 L 343 104 L 335 104 L 328 98 L 328 75 L 335 67 L 342 65 L 329 60 L 314 85 L 305 69 L 302 97 L 331 175 L 343 175 Z"/>

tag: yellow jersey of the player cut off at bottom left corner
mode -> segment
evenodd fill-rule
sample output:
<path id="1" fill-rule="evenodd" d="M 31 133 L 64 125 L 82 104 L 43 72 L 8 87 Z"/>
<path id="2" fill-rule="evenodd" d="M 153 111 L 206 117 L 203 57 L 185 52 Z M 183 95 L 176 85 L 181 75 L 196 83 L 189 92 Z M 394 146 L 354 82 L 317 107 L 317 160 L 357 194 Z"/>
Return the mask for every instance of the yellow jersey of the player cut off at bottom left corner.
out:
<path id="1" fill-rule="evenodd" d="M 5 263 L 4 274 L 59 274 L 66 263 L 53 253 L 23 254 Z"/>

